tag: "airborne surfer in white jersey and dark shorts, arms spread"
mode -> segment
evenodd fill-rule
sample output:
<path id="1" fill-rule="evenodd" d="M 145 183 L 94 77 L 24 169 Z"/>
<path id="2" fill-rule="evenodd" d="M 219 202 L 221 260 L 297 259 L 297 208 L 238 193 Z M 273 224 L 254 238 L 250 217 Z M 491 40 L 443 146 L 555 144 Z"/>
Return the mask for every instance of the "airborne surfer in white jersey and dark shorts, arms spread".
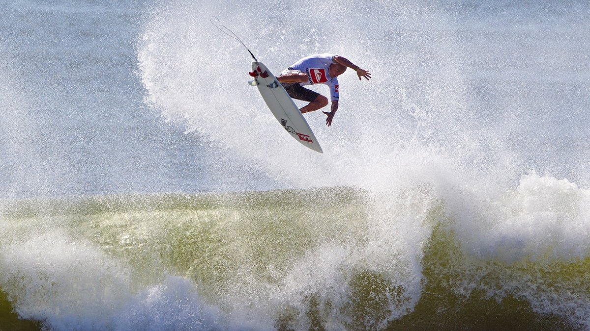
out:
<path id="1" fill-rule="evenodd" d="M 371 79 L 371 74 L 368 70 L 361 69 L 358 65 L 354 65 L 348 59 L 332 54 L 317 54 L 310 55 L 297 61 L 291 67 L 285 69 L 277 77 L 278 82 L 283 85 L 291 98 L 309 102 L 306 106 L 300 109 L 302 114 L 310 111 L 316 111 L 320 108 L 326 107 L 328 99 L 318 92 L 308 90 L 303 85 L 312 84 L 326 84 L 330 87 L 330 99 L 332 100 L 332 107 L 330 112 L 324 111 L 326 114 L 326 125 L 332 125 L 332 118 L 338 110 L 338 76 L 346 71 L 346 68 L 351 68 L 358 75 L 359 80 L 365 77 L 366 80 Z"/>

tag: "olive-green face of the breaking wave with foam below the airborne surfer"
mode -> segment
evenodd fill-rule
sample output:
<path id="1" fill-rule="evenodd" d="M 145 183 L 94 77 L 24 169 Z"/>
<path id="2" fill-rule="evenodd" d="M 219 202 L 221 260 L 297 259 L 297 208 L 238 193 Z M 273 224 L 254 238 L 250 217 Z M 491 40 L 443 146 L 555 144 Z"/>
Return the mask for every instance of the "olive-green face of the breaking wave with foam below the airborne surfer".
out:
<path id="1" fill-rule="evenodd" d="M 5 201 L 2 330 L 142 329 L 164 312 L 152 320 L 162 329 L 232 329 L 232 318 L 238 329 L 583 329 L 568 313 L 584 304 L 557 305 L 589 295 L 588 259 L 468 254 L 445 204 L 422 196 L 411 202 L 428 206 L 429 234 L 411 266 L 385 244 L 382 198 L 336 187 Z"/>

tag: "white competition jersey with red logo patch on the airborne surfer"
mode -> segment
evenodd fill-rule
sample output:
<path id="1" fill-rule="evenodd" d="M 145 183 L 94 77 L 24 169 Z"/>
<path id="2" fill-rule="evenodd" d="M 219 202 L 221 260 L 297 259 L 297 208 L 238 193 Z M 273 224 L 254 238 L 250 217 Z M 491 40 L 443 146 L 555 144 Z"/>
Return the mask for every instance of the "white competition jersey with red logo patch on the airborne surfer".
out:
<path id="1" fill-rule="evenodd" d="M 338 78 L 330 77 L 330 65 L 334 62 L 336 55 L 333 54 L 316 54 L 310 55 L 297 61 L 289 68 L 305 72 L 309 81 L 300 83 L 301 85 L 326 84 L 330 87 L 330 98 L 332 101 L 338 101 Z"/>

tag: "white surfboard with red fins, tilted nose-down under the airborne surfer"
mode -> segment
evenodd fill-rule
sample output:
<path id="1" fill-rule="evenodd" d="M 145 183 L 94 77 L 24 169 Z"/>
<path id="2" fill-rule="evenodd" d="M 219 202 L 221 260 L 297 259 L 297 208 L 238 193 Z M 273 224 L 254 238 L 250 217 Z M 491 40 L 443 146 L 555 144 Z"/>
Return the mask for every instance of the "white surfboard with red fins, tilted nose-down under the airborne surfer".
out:
<path id="1" fill-rule="evenodd" d="M 307 148 L 323 153 L 322 147 L 317 142 L 316 136 L 307 124 L 303 114 L 289 97 L 287 91 L 283 88 L 273 73 L 268 70 L 262 62 L 252 62 L 251 76 L 254 80 L 251 85 L 257 86 L 260 95 L 266 102 L 266 105 L 277 119 L 278 123 L 301 144 Z"/>

